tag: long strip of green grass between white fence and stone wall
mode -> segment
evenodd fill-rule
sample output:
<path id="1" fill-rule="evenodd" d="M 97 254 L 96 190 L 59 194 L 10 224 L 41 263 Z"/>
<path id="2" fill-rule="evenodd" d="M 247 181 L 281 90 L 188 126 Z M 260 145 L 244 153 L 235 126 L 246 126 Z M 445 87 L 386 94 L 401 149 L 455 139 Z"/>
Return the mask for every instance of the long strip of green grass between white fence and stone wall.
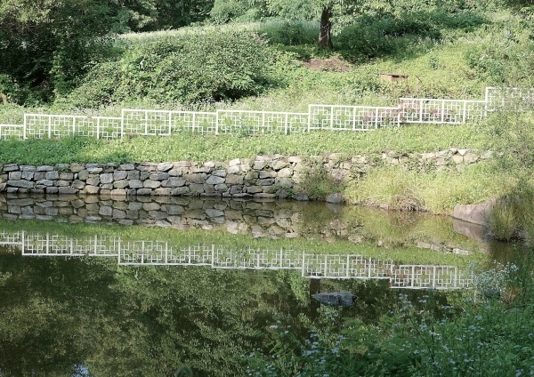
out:
<path id="1" fill-rule="evenodd" d="M 490 148 L 492 140 L 473 124 L 458 126 L 406 125 L 373 132 L 311 132 L 261 137 L 202 136 L 180 133 L 173 137 L 126 137 L 94 140 L 0 141 L 0 164 L 124 163 L 166 161 L 223 161 L 257 155 L 353 156 L 395 150 L 423 153 L 447 148 Z"/>

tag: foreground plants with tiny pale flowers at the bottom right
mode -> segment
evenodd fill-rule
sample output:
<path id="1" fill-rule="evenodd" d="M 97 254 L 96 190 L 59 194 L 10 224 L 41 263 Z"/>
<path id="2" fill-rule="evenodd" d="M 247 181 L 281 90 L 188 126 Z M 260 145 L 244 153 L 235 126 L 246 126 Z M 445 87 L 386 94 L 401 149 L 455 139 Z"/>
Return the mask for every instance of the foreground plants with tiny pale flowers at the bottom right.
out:
<path id="1" fill-rule="evenodd" d="M 332 322 L 304 341 L 282 324 L 271 330 L 273 347 L 245 361 L 258 376 L 531 373 L 534 282 L 529 259 L 525 254 L 517 265 L 478 271 L 474 300 L 469 293 L 463 301 L 449 302 L 434 291 L 416 300 L 401 293 L 377 325 L 346 318 L 341 331 Z"/>

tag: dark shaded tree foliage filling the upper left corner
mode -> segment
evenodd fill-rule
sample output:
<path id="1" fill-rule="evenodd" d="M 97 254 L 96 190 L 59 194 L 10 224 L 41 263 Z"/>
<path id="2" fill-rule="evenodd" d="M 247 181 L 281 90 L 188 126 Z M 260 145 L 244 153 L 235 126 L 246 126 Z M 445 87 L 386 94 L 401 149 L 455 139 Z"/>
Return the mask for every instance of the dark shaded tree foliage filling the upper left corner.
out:
<path id="1" fill-rule="evenodd" d="M 79 84 L 109 45 L 109 13 L 109 4 L 92 0 L 2 2 L 0 75 L 10 77 L 12 100 L 47 100 Z"/>

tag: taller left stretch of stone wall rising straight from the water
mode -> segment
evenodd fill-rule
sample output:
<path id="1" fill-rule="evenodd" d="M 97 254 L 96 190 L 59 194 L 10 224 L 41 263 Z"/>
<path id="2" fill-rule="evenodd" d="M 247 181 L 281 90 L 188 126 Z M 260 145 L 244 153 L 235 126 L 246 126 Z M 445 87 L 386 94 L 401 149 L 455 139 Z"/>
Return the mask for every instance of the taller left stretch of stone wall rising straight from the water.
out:
<path id="1" fill-rule="evenodd" d="M 299 157 L 256 156 L 204 164 L 0 164 L 0 191 L 7 193 L 287 197 Z"/>

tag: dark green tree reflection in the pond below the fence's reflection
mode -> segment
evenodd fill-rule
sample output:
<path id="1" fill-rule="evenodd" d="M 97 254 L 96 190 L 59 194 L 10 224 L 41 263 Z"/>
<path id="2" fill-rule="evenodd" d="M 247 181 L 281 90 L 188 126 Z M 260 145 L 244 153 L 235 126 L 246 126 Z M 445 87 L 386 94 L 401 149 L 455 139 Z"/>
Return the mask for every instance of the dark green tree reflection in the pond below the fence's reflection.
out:
<path id="1" fill-rule="evenodd" d="M 366 322 L 398 295 L 374 281 L 311 284 L 293 270 L 117 266 L 109 258 L 1 253 L 0 271 L 7 375 L 68 375 L 86 365 L 93 375 L 159 376 L 183 364 L 196 376 L 244 375 L 236 357 L 263 347 L 275 313 L 293 318 L 303 336 L 320 325 L 313 289 L 356 294 L 344 316 Z"/>

